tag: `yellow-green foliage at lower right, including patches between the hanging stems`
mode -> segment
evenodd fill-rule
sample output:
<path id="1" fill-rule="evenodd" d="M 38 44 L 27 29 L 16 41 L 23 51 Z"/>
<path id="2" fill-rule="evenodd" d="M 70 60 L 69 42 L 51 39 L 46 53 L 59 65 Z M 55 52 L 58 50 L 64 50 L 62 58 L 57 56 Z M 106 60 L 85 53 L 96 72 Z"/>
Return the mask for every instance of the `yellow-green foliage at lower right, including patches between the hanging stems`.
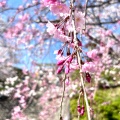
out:
<path id="1" fill-rule="evenodd" d="M 120 120 L 120 88 L 98 90 L 91 107 L 94 110 L 93 120 Z M 77 98 L 70 101 L 71 120 L 77 119 Z M 80 120 L 87 120 L 86 114 Z"/>

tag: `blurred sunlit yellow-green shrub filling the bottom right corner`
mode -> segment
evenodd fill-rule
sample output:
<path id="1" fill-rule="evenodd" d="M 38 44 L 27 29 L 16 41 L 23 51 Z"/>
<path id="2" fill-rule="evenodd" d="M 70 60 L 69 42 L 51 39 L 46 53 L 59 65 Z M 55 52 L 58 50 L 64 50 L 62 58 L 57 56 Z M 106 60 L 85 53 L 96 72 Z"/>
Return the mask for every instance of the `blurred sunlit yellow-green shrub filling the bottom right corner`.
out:
<path id="1" fill-rule="evenodd" d="M 97 91 L 94 104 L 95 120 L 120 120 L 119 92 L 120 88 Z"/>

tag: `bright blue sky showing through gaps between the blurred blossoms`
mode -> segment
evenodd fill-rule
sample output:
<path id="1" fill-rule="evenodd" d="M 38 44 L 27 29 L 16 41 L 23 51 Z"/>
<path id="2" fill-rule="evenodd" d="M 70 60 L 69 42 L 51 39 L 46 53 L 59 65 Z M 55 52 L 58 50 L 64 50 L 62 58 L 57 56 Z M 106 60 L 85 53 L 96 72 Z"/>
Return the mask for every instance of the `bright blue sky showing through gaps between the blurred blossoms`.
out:
<path id="1" fill-rule="evenodd" d="M 18 7 L 19 5 L 23 4 L 24 0 L 7 0 L 9 6 L 11 7 Z M 11 12 L 12 14 L 12 12 Z M 6 17 L 8 16 L 8 12 L 6 12 L 6 14 L 3 15 L 3 18 L 6 19 Z M 50 20 L 54 20 L 56 17 L 52 14 L 52 13 L 49 13 L 48 16 L 47 16 Z M 120 29 L 118 29 L 117 31 L 115 31 L 117 34 L 120 33 Z M 43 57 L 38 57 L 36 58 L 36 61 L 38 61 L 39 63 L 55 63 L 56 62 L 56 55 L 54 55 L 54 50 L 57 50 L 59 49 L 61 46 L 60 42 L 57 42 L 55 44 L 52 44 L 50 46 L 50 48 L 45 52 L 45 54 L 43 55 Z M 22 57 L 24 63 L 25 63 L 25 66 L 30 66 L 31 64 L 31 61 L 32 59 L 29 57 L 29 54 L 28 54 L 28 51 L 25 51 L 24 52 L 24 55 Z M 21 62 L 22 63 L 22 62 Z M 18 64 L 17 66 L 21 67 L 23 66 L 23 64 Z"/>

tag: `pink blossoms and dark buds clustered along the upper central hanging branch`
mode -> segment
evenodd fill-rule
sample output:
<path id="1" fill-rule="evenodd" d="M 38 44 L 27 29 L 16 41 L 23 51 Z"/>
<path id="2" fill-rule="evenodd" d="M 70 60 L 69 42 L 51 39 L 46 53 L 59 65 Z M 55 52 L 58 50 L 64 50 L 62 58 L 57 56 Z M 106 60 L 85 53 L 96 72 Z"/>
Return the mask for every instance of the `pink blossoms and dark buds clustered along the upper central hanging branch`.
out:
<path id="1" fill-rule="evenodd" d="M 60 5 L 59 5 L 60 4 Z M 54 10 L 54 6 L 58 5 L 58 9 Z M 52 6 L 52 7 L 51 7 Z M 66 5 L 64 3 L 59 2 L 50 2 L 50 10 L 55 15 L 61 16 L 62 21 L 53 24 L 50 21 L 46 24 L 47 26 L 47 32 L 52 35 L 54 38 L 60 40 L 64 43 L 62 48 L 58 51 L 55 51 L 55 54 L 57 55 L 56 59 L 58 60 L 57 65 L 57 73 L 60 73 L 63 69 L 65 71 L 65 74 L 67 74 L 67 79 L 69 79 L 69 73 L 80 69 L 80 66 L 78 64 L 77 60 L 77 49 L 79 49 L 79 52 L 82 53 L 82 42 L 77 38 L 77 46 L 74 41 L 74 28 L 72 26 L 72 15 L 71 15 L 71 9 L 66 6 L 66 9 L 59 10 L 61 8 L 64 8 Z M 59 8 L 60 7 L 60 8 Z M 58 14 L 59 13 L 59 14 Z M 61 15 L 63 13 L 63 15 Z M 66 13 L 66 14 L 65 14 Z M 74 18 L 75 18 L 75 29 L 76 32 L 79 33 L 82 31 L 85 23 L 84 14 L 81 11 L 75 10 L 74 12 Z M 65 51 L 65 49 L 67 49 Z M 66 52 L 66 53 L 65 53 Z M 99 60 L 99 56 L 97 55 L 98 51 L 93 50 L 87 53 L 87 57 L 89 57 L 92 60 Z M 86 80 L 90 82 L 91 76 L 89 73 L 95 72 L 96 67 L 94 63 L 91 61 L 80 61 L 82 64 L 82 72 L 85 72 Z"/>

